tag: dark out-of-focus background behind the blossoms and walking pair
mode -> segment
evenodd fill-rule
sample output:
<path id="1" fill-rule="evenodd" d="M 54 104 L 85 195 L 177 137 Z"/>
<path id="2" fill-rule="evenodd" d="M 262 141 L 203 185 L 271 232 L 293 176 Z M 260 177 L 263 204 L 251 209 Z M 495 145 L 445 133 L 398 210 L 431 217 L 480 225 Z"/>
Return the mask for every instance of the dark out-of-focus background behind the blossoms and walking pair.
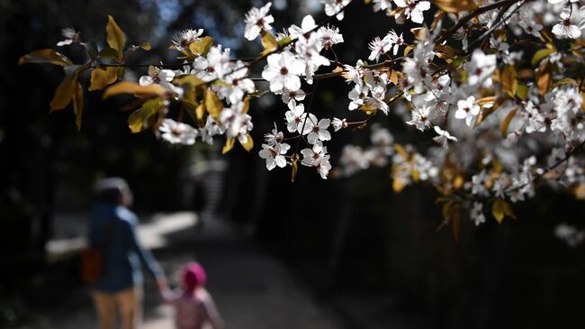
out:
<path id="1" fill-rule="evenodd" d="M 131 134 L 130 112 L 121 110 L 130 98 L 103 101 L 101 92 L 85 92 L 77 132 L 70 107 L 49 114 L 62 69 L 16 65 L 32 50 L 55 48 L 64 27 L 103 46 L 107 14 L 126 32 L 128 44 L 153 46 L 137 51 L 130 62 L 175 61 L 176 53 L 167 50 L 170 37 L 187 28 L 205 29 L 237 57 L 255 56 L 260 45 L 243 38 L 243 15 L 253 5 L 263 2 L 0 0 L 0 326 L 35 327 L 35 312 L 50 310 L 56 300 L 67 303 L 62 289 L 82 289 L 70 263 L 75 256 L 52 259 L 47 244 L 61 234 L 59 216 L 81 214 L 85 220 L 92 185 L 107 176 L 128 179 L 134 210 L 145 217 L 193 210 L 202 202 L 193 186 L 212 176 L 219 192 L 208 220 L 220 218 L 240 228 L 260 252 L 284 263 L 341 328 L 585 325 L 583 247 L 569 248 L 554 237 L 557 224 L 582 222 L 583 203 L 572 196 L 541 189 L 538 197 L 516 206 L 517 221 L 489 219 L 479 228 L 465 222 L 457 243 L 448 228 L 436 232 L 442 219 L 433 188 L 408 187 L 394 194 L 389 168 L 338 180 L 322 180 L 313 169 L 302 168 L 294 184 L 288 169 L 268 172 L 257 149 L 273 122 L 283 123 L 285 106 L 276 98 L 252 103 L 255 151 L 237 147 L 220 156 L 220 145 L 181 148 L 151 132 Z M 321 8 L 311 0 L 275 1 L 273 26 L 281 31 L 305 14 L 319 22 Z M 366 44 L 374 36 L 397 28 L 362 1 L 350 5 L 346 19 L 335 24 L 345 39 L 335 50 L 347 63 L 367 57 Z M 85 60 L 77 45 L 59 51 Z M 85 86 L 87 79 L 82 78 Z M 267 86 L 259 82 L 257 87 Z M 323 81 L 315 112 L 347 116 L 347 91 L 342 80 Z M 397 141 L 417 142 L 400 119 L 376 120 Z M 329 151 L 335 166 L 341 147 L 367 141 L 369 132 L 334 137 Z"/>

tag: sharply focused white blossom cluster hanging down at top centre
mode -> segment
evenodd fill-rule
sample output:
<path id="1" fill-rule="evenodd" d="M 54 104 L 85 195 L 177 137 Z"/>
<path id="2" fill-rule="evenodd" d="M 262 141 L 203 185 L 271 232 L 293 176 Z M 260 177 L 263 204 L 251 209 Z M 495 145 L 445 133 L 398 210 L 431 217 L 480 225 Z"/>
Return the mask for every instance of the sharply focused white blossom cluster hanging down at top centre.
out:
<path id="1" fill-rule="evenodd" d="M 267 7 L 269 5 L 264 8 Z M 329 8 L 327 4 L 326 8 Z M 331 8 L 336 9 L 335 5 Z M 256 9 L 252 9 L 250 13 L 267 14 L 266 11 Z M 255 17 L 252 21 L 256 19 Z M 255 26 L 257 25 L 247 25 L 247 34 L 252 35 L 250 31 L 256 29 Z M 280 33 L 277 40 L 283 40 L 285 37 L 291 38 L 293 46 L 287 45 L 283 51 L 268 55 L 262 78 L 270 83 L 271 92 L 282 96 L 284 104 L 289 108 L 284 114 L 287 131 L 297 133 L 297 138 L 302 138 L 302 141 L 310 146 L 301 150 L 302 165 L 316 168 L 321 178 L 327 178 L 331 164 L 327 146 L 324 146 L 323 142 L 331 139 L 328 131 L 331 120 L 318 119 L 315 114 L 305 112 L 304 105 L 300 103 L 306 96 L 301 89 L 302 78 L 306 83 L 312 84 L 315 72 L 322 66 L 330 65 L 329 59 L 321 55 L 321 51 L 329 50 L 333 45 L 343 42 L 343 37 L 335 27 L 318 26 L 311 15 L 306 15 L 302 19 L 301 26 L 291 25 L 284 33 Z M 262 144 L 262 151 L 259 152 L 260 157 L 266 159 L 267 169 L 283 168 L 287 163 L 287 157 L 291 159 L 289 162 L 293 163 L 293 156 L 287 155 L 291 147 L 283 141 L 284 133 L 279 132 L 275 124 L 273 132 L 266 134 L 266 143 Z"/>

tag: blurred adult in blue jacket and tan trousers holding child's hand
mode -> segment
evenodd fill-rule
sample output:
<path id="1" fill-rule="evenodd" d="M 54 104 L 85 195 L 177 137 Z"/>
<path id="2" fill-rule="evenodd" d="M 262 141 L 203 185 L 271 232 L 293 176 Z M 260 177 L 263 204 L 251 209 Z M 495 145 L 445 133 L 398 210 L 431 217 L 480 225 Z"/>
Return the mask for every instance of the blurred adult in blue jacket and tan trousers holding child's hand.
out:
<path id="1" fill-rule="evenodd" d="M 95 186 L 97 200 L 91 211 L 89 242 L 103 255 L 101 274 L 91 285 L 100 329 L 112 329 L 121 315 L 122 329 L 136 329 L 142 320 L 141 265 L 157 280 L 161 291 L 166 278 L 152 254 L 136 234 L 137 216 L 130 187 L 122 178 L 105 178 Z"/>

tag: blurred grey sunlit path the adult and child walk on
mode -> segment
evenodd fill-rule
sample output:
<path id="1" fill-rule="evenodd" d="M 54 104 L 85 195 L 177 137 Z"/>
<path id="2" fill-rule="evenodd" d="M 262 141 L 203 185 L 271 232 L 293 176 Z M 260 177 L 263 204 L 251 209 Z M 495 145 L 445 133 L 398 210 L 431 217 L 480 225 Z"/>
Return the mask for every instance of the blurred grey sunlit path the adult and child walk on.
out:
<path id="1" fill-rule="evenodd" d="M 159 215 L 141 225 L 139 234 L 153 248 L 174 286 L 184 262 L 202 263 L 208 272 L 208 288 L 228 328 L 344 327 L 313 301 L 281 262 L 266 255 L 246 234 L 218 220 L 202 227 L 195 223 L 189 213 Z M 58 242 L 51 245 L 58 247 Z M 72 297 L 40 314 L 33 327 L 94 329 L 95 316 L 87 294 L 67 296 Z M 146 287 L 145 305 L 145 329 L 173 328 L 173 311 L 160 304 L 151 282 Z"/>

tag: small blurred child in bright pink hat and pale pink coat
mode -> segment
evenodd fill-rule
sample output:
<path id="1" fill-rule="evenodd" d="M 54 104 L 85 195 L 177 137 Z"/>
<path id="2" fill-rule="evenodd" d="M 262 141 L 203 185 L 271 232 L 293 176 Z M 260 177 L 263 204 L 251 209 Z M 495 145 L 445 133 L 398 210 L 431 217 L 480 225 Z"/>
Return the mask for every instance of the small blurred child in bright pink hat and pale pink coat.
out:
<path id="1" fill-rule="evenodd" d="M 181 273 L 182 288 L 163 294 L 167 303 L 175 306 L 176 329 L 201 329 L 209 322 L 214 329 L 223 328 L 223 322 L 205 285 L 205 271 L 199 263 L 184 266 Z"/>

